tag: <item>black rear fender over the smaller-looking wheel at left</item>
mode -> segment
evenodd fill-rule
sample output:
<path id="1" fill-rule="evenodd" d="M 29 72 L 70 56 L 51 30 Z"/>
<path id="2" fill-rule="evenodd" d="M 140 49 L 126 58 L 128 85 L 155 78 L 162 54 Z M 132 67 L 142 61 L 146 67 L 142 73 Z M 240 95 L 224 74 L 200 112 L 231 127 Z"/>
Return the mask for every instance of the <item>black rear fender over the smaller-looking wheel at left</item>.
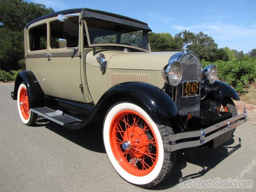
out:
<path id="1" fill-rule="evenodd" d="M 26 85 L 30 108 L 44 106 L 44 92 L 32 71 L 22 71 L 16 76 L 13 99 L 17 100 L 18 88 L 21 82 Z"/>

